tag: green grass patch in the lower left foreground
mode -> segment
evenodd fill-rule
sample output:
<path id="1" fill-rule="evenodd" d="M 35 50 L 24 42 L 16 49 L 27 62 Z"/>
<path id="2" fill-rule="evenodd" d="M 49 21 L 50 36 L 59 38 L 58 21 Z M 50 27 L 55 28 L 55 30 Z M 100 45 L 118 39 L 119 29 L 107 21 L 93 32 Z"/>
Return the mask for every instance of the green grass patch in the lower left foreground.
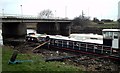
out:
<path id="1" fill-rule="evenodd" d="M 17 60 L 33 60 L 33 62 L 23 62 L 21 64 L 8 65 L 13 50 L 2 48 L 2 71 L 81 71 L 79 67 L 66 65 L 64 62 L 45 62 L 41 55 L 19 54 Z M 29 56 L 28 56 L 29 55 Z"/>

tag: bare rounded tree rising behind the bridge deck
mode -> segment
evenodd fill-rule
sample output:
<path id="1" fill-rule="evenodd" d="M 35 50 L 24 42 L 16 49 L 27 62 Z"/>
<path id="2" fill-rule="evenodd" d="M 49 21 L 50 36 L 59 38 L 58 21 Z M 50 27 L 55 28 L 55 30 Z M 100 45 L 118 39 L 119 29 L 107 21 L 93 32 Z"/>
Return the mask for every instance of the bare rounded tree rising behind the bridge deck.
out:
<path id="1" fill-rule="evenodd" d="M 51 10 L 47 9 L 47 10 L 43 10 L 39 13 L 39 17 L 40 18 L 53 18 L 53 13 Z"/>

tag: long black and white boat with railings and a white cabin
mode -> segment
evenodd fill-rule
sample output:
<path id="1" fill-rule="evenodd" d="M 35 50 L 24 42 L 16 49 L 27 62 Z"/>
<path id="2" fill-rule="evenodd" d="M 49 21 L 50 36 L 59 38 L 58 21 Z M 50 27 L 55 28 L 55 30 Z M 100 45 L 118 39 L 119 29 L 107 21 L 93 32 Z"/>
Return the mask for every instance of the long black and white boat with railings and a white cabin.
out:
<path id="1" fill-rule="evenodd" d="M 102 34 L 29 34 L 26 41 L 48 42 L 44 46 L 120 60 L 120 29 L 103 29 Z"/>

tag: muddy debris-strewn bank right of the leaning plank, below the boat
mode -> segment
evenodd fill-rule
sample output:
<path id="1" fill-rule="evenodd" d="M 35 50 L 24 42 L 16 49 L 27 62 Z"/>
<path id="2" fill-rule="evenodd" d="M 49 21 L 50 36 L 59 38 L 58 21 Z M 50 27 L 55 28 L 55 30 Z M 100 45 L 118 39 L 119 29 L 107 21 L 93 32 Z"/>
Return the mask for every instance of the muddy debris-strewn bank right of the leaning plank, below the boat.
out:
<path id="1" fill-rule="evenodd" d="M 55 51 L 55 50 L 48 50 L 48 49 L 39 49 L 34 53 L 43 55 L 44 59 L 48 59 L 48 58 L 57 59 L 57 58 L 77 56 L 74 58 L 63 59 L 63 62 L 65 64 L 70 64 L 70 65 L 80 67 L 84 71 L 118 71 L 120 70 L 120 66 L 116 62 L 110 59 L 98 58 L 97 56 L 89 56 L 84 54 L 75 54 L 75 53 L 64 52 L 60 50 Z"/>

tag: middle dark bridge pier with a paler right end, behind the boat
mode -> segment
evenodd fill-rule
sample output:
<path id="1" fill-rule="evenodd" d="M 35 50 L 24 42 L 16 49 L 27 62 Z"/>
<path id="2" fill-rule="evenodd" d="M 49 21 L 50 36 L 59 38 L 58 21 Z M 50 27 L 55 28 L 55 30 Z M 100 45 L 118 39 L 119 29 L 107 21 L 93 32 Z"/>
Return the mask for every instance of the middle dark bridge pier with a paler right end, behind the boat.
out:
<path id="1" fill-rule="evenodd" d="M 59 30 L 59 23 L 40 22 L 37 24 L 37 33 L 39 34 L 57 35 L 60 32 Z"/>

